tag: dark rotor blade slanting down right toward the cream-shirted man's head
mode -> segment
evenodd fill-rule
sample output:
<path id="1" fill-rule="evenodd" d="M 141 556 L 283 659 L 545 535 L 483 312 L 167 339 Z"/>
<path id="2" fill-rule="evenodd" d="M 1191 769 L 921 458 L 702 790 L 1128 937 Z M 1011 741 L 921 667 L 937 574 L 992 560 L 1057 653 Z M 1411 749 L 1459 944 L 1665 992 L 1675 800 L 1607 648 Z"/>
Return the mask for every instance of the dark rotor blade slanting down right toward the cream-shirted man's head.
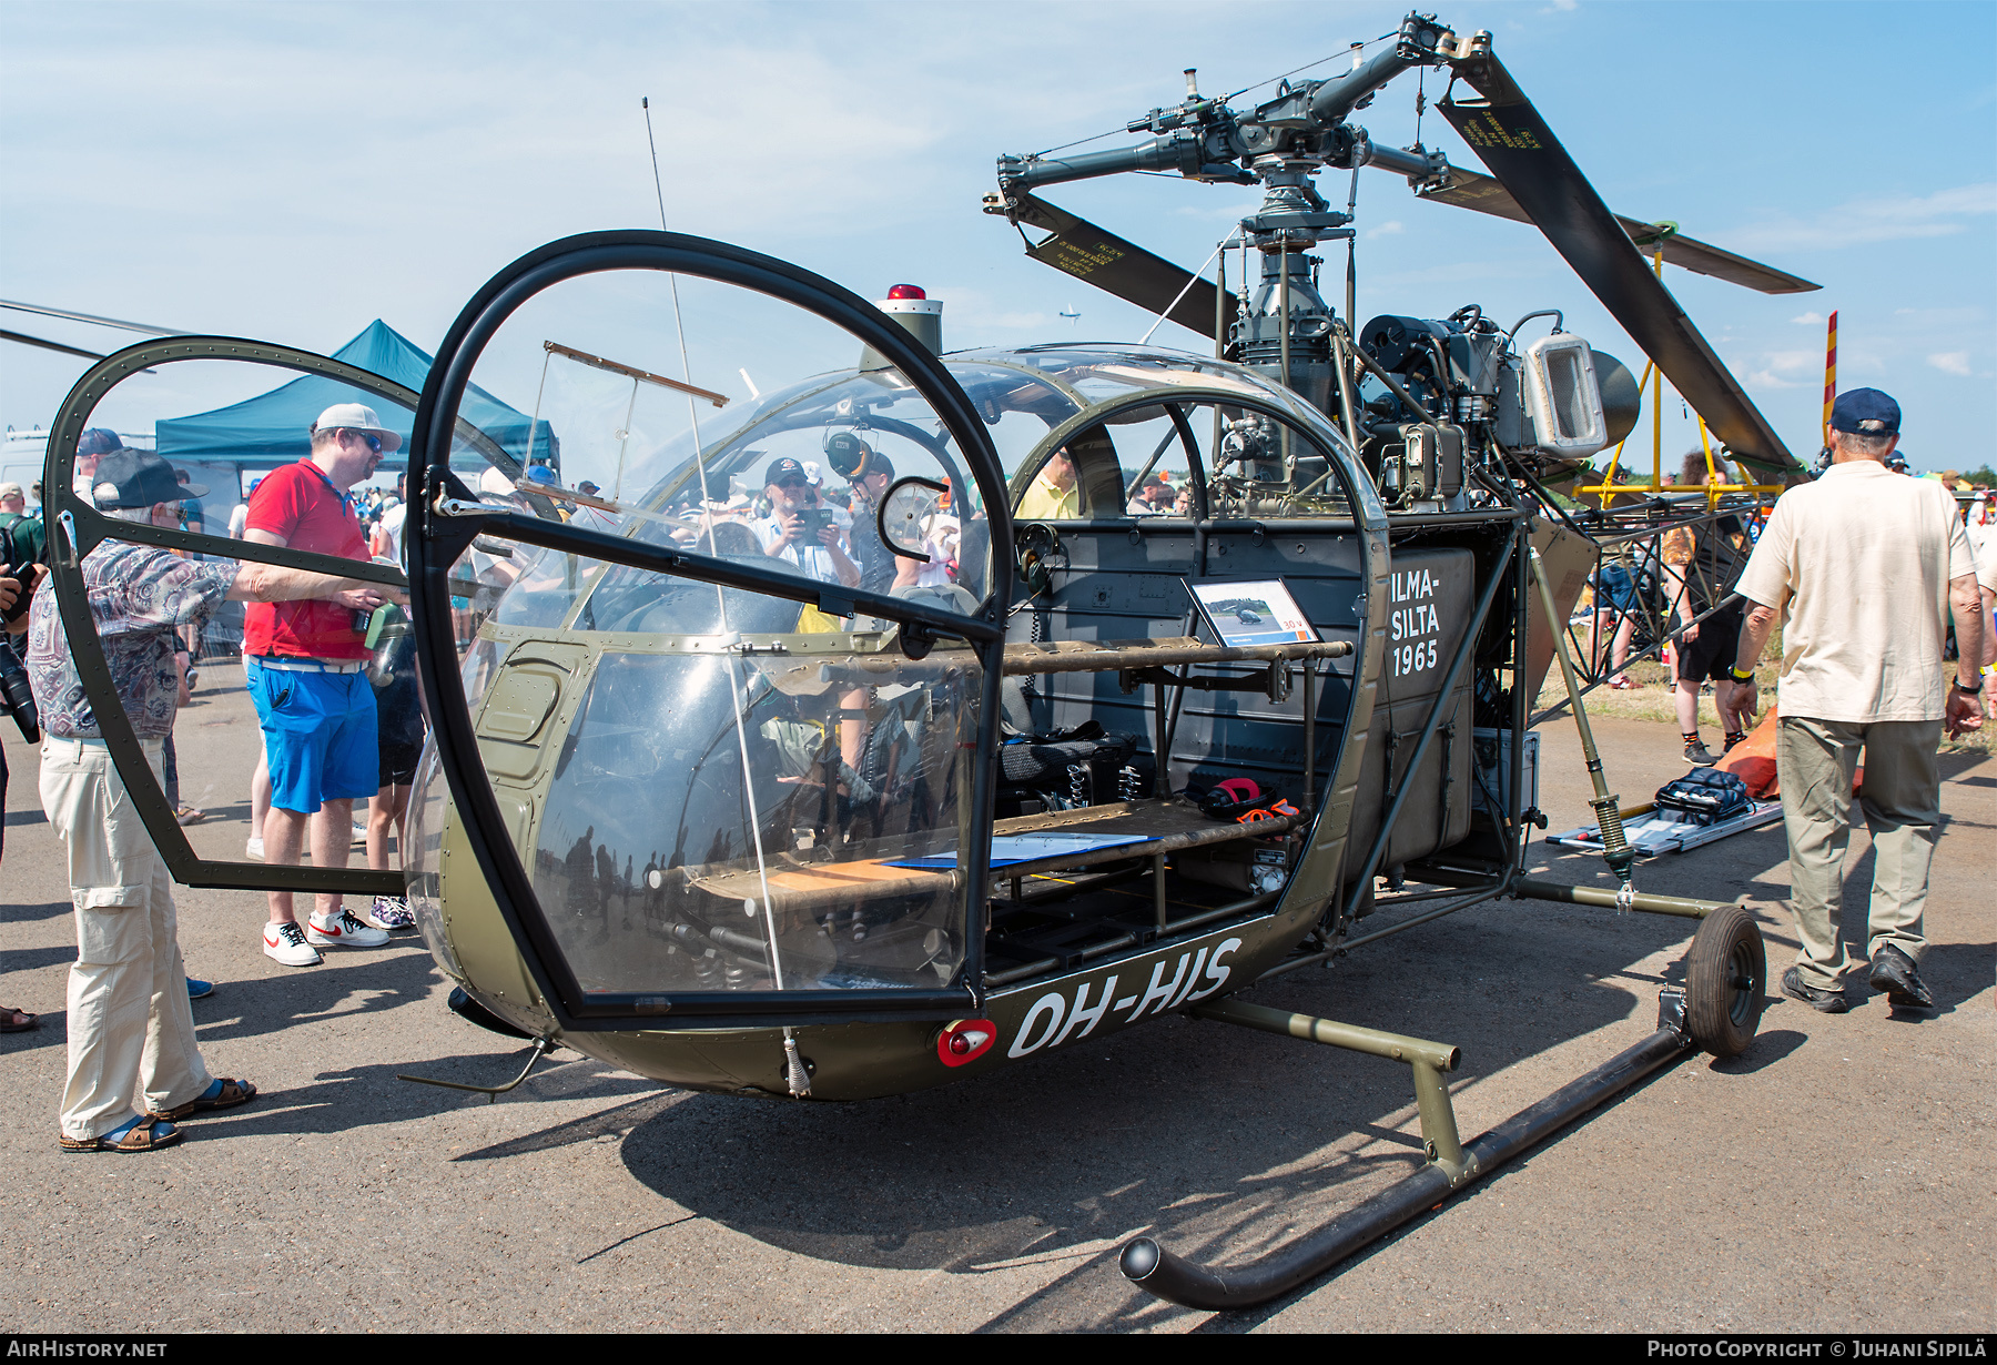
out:
<path id="1" fill-rule="evenodd" d="M 1807 480 L 1809 474 L 1652 274 L 1622 222 L 1498 58 L 1476 54 L 1452 66 L 1484 100 L 1448 98 L 1436 108 L 1574 266 L 1574 274 L 1658 362 L 1671 388 L 1737 460 L 1789 482 Z"/>

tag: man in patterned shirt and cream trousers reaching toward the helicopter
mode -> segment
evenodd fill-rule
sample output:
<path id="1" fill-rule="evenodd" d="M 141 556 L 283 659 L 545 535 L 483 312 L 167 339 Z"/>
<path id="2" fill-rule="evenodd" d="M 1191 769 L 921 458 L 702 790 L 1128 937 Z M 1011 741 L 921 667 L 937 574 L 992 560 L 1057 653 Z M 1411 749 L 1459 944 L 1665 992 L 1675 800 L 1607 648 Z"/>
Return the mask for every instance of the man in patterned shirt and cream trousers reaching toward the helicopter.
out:
<path id="1" fill-rule="evenodd" d="M 172 466 L 146 450 L 106 454 L 92 478 L 98 510 L 126 522 L 148 524 L 156 508 L 182 498 Z M 176 628 L 208 618 L 224 600 L 339 602 L 371 592 L 351 578 L 200 564 L 118 540 L 84 556 L 82 570 L 104 664 L 154 781 L 180 695 Z M 48 592 L 34 596 L 28 616 L 28 680 L 42 711 L 42 809 L 68 849 L 76 905 L 60 1145 L 168 1147 L 182 1137 L 174 1121 L 248 1103 L 256 1085 L 210 1075 L 196 1047 L 172 881 L 104 747 Z M 140 1083 L 144 1115 L 132 1111 Z"/>

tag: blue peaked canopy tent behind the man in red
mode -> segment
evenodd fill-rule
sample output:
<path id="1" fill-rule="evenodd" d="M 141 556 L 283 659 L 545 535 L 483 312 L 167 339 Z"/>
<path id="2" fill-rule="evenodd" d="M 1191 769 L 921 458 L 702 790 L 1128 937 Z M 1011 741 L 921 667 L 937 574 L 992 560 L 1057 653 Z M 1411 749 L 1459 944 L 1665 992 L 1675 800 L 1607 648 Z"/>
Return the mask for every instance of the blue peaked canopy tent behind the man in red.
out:
<path id="1" fill-rule="evenodd" d="M 417 350 L 409 338 L 387 326 L 379 318 L 367 330 L 333 352 L 333 360 L 379 374 L 403 388 L 421 392 L 429 374 L 429 356 Z M 333 404 L 367 404 L 381 418 L 381 424 L 399 432 L 403 448 L 381 462 L 385 470 L 399 470 L 407 464 L 409 424 L 415 414 L 401 408 L 383 406 L 373 394 L 365 394 L 337 380 L 306 374 L 268 394 L 246 398 L 228 408 L 198 412 L 190 418 L 168 418 L 154 424 L 158 450 L 168 462 L 192 464 L 234 464 L 234 466 L 280 466 L 304 460 L 310 448 L 314 420 Z M 485 390 L 473 386 L 465 394 L 459 416 L 509 456 L 527 464 L 527 428 L 531 418 L 509 408 Z M 533 458 L 557 464 L 555 454 L 561 444 L 549 432 L 547 422 L 533 422 Z M 453 452 L 451 464 L 477 468 L 483 460 L 473 452 Z"/>

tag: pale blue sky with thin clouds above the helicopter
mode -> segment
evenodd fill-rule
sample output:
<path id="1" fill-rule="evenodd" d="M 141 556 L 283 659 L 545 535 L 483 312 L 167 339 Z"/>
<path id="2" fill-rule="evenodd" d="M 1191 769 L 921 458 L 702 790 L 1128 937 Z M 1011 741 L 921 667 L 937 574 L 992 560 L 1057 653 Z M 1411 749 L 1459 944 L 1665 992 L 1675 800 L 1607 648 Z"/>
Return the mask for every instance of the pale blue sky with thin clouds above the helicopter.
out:
<path id="1" fill-rule="evenodd" d="M 1136 340 L 1150 318 L 1026 260 L 979 212 L 993 158 L 1120 128 L 1174 102 L 1184 66 L 1204 92 L 1234 90 L 1404 12 L 6 0 L 0 298 L 322 352 L 379 316 L 427 350 L 513 256 L 657 224 L 639 114 L 651 96 L 675 230 L 865 296 L 923 284 L 947 304 L 951 348 Z M 1835 308 L 1841 386 L 1899 398 L 1915 466 L 1993 458 L 1997 6 L 1480 0 L 1440 18 L 1494 32 L 1612 208 L 1825 286 L 1769 298 L 1665 274 L 1793 450 L 1815 450 Z M 1430 76 L 1428 96 L 1438 88 Z M 1406 144 L 1414 94 L 1404 76 L 1358 122 Z M 1434 114 L 1422 134 L 1480 164 Z M 1184 266 L 1252 208 L 1250 190 L 1162 178 L 1048 198 Z M 1362 322 L 1560 306 L 1570 330 L 1642 364 L 1530 228 L 1414 202 L 1376 172 L 1358 226 Z M 90 350 L 132 340 L 4 316 Z M 703 340 L 741 352 L 697 330 L 697 382 Z M 1172 326 L 1154 340 L 1200 346 Z M 46 424 L 82 368 L 0 346 L 0 420 Z M 733 364 L 707 380 L 741 390 Z M 1687 432 L 1667 402 L 1667 456 Z"/>

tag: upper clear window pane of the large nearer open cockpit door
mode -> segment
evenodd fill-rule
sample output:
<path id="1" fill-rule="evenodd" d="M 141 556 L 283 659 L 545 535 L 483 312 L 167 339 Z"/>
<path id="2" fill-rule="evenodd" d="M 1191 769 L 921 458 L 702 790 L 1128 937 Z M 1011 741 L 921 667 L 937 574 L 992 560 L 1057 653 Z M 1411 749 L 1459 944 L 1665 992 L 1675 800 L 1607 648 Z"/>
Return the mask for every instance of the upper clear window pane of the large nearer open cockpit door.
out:
<path id="1" fill-rule="evenodd" d="M 527 480 L 567 522 L 893 592 L 919 578 L 875 530 L 893 480 L 929 478 L 953 490 L 961 516 L 983 512 L 933 406 L 877 358 L 863 368 L 863 350 L 845 330 L 753 290 L 679 278 L 675 300 L 673 278 L 625 270 L 567 280 L 523 304 L 481 352 L 473 382 L 545 428 L 531 460 L 541 470 Z M 1062 404 L 1046 384 L 1006 378 L 1040 406 Z M 959 554 L 951 584 L 977 602 L 989 536 L 969 540 L 973 554 Z M 501 616 L 559 624 L 579 610 L 583 588 L 567 568 L 543 574 Z"/>

